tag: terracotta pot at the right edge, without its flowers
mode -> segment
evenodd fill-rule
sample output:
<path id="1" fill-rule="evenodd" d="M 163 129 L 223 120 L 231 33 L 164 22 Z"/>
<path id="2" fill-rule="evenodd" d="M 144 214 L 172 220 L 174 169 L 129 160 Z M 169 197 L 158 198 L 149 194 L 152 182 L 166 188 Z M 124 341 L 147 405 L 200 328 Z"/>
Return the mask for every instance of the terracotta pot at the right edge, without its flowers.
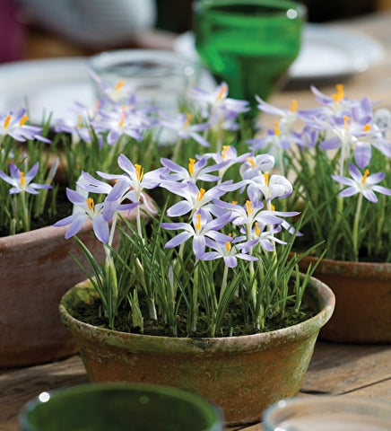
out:
<path id="1" fill-rule="evenodd" d="M 301 260 L 300 269 L 316 260 Z M 391 263 L 323 259 L 315 277 L 335 293 L 335 312 L 319 338 L 345 343 L 391 342 Z"/>

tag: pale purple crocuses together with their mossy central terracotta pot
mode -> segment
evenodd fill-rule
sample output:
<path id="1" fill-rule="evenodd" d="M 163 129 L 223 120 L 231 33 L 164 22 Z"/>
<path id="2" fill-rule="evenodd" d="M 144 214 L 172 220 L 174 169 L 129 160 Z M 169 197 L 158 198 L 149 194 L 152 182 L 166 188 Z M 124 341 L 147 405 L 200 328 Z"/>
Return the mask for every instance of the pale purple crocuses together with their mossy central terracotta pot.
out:
<path id="1" fill-rule="evenodd" d="M 274 157 L 225 145 L 224 127 L 243 110 L 227 93 L 225 84 L 195 89 L 191 114 L 164 118 L 183 144 L 191 134 L 193 144 L 210 145 L 185 165 L 180 146 L 176 161 L 161 157 L 152 170 L 120 154 L 122 173 L 83 172 L 76 185 L 99 202 L 90 216 L 105 259 L 77 236 L 81 200 L 57 225 L 69 225 L 89 262 L 88 279 L 63 296 L 60 313 L 91 381 L 196 391 L 231 425 L 255 422 L 273 400 L 300 390 L 334 295 L 313 268 L 300 274 L 303 255 L 290 257 L 298 230 L 288 220 L 298 213 L 284 208 L 292 187 L 274 174 Z M 148 225 L 140 221 L 145 190 L 161 201 Z M 124 205 L 135 206 L 135 224 L 117 225 Z"/>

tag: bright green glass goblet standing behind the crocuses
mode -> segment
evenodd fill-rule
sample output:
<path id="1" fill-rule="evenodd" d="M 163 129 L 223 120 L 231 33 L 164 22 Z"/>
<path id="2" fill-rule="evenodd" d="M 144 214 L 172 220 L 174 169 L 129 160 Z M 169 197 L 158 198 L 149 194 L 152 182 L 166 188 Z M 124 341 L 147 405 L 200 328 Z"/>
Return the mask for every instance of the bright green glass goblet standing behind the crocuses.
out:
<path id="1" fill-rule="evenodd" d="M 230 97 L 264 100 L 287 77 L 300 51 L 307 9 L 291 0 L 196 0 L 196 50 Z"/>

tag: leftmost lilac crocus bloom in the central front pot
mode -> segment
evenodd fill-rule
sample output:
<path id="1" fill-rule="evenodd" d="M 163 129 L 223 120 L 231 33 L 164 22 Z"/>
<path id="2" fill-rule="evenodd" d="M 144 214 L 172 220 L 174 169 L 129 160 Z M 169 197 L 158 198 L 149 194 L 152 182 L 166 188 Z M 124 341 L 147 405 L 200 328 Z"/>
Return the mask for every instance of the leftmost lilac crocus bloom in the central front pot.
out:
<path id="1" fill-rule="evenodd" d="M 66 196 L 74 204 L 74 212 L 58 220 L 55 226 L 66 226 L 70 224 L 65 233 L 65 238 L 71 238 L 77 234 L 87 220 L 91 220 L 93 232 L 100 242 L 109 242 L 109 222 L 103 217 L 104 204 L 94 203 L 92 198 L 86 198 L 82 193 L 72 189 L 66 189 Z"/>

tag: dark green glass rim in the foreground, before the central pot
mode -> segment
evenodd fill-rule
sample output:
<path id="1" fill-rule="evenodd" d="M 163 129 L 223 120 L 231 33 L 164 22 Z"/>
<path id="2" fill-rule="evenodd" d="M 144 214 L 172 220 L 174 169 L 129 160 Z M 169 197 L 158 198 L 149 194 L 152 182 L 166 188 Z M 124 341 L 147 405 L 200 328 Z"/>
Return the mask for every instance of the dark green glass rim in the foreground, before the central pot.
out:
<path id="1" fill-rule="evenodd" d="M 20 413 L 22 431 L 222 431 L 222 412 L 177 388 L 91 383 L 43 392 Z"/>

